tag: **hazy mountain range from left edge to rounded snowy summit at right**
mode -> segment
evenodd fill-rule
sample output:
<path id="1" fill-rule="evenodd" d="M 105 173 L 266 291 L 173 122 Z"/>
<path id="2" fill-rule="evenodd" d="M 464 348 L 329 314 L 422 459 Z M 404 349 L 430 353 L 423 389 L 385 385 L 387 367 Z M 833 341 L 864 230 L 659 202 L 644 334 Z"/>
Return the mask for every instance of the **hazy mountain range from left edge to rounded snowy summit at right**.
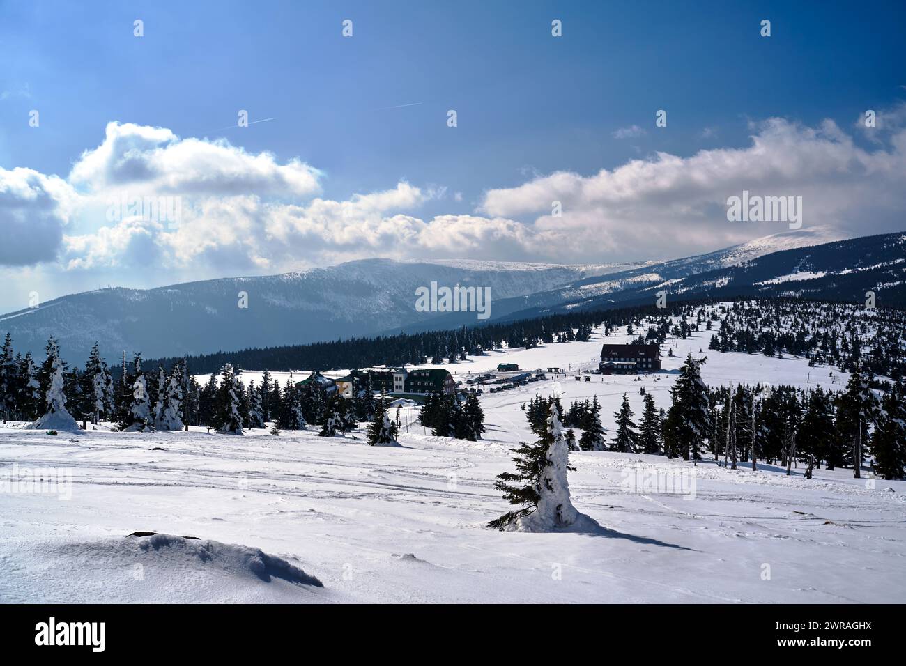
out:
<path id="1" fill-rule="evenodd" d="M 432 282 L 489 287 L 495 319 L 604 296 L 625 300 L 614 294 L 630 297 L 651 285 L 725 269 L 781 249 L 812 246 L 832 235 L 820 227 L 776 234 L 667 262 L 555 265 L 364 259 L 284 275 L 155 289 L 101 289 L 0 316 L 0 334 L 8 331 L 17 350 L 38 358 L 54 336 L 63 358 L 81 363 L 95 342 L 108 361 L 116 362 L 123 351 L 163 357 L 442 328 L 475 323 L 476 315 L 417 311 L 416 289 Z M 776 275 L 764 279 L 770 277 Z M 244 302 L 247 307 L 241 306 Z"/>

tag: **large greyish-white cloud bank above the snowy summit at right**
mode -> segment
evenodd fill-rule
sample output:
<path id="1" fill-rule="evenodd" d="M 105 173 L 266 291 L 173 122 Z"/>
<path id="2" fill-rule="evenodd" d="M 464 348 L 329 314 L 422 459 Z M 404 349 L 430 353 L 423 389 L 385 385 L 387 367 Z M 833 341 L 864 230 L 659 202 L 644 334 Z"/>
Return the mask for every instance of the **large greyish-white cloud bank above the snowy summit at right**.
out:
<path id="1" fill-rule="evenodd" d="M 887 118 L 890 120 L 889 114 Z M 480 212 L 528 217 L 535 231 L 569 229 L 571 252 L 641 248 L 677 256 L 786 230 L 768 223 L 729 223 L 728 197 L 801 196 L 805 226 L 854 233 L 903 228 L 906 131 L 874 150 L 860 147 L 833 121 L 817 128 L 783 119 L 752 125 L 740 149 L 700 150 L 683 158 L 659 152 L 591 176 L 559 171 L 516 188 L 491 189 Z M 562 217 L 552 217 L 554 201 Z"/>

